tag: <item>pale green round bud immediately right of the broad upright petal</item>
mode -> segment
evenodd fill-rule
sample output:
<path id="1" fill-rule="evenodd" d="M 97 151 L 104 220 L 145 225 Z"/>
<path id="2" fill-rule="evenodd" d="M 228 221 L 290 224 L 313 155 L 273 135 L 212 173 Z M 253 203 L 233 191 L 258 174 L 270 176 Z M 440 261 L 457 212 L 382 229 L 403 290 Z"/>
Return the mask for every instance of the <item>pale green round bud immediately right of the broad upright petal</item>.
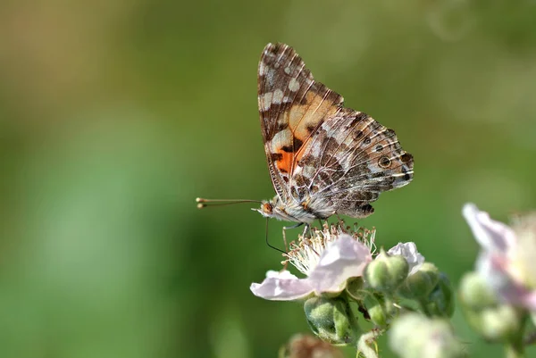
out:
<path id="1" fill-rule="evenodd" d="M 369 287 L 392 295 L 407 277 L 409 265 L 400 255 L 389 255 L 383 249 L 364 270 L 364 280 Z"/>

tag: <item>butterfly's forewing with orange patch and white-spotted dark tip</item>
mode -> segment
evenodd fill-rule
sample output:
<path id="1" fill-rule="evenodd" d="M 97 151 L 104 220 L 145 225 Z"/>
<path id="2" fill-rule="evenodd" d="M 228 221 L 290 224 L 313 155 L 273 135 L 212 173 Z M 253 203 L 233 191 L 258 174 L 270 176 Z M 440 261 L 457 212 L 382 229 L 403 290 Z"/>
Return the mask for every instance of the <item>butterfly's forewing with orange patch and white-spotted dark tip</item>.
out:
<path id="1" fill-rule="evenodd" d="M 297 161 L 322 122 L 341 111 L 342 96 L 315 82 L 292 47 L 268 44 L 258 69 L 258 105 L 272 184 L 291 198 Z"/>

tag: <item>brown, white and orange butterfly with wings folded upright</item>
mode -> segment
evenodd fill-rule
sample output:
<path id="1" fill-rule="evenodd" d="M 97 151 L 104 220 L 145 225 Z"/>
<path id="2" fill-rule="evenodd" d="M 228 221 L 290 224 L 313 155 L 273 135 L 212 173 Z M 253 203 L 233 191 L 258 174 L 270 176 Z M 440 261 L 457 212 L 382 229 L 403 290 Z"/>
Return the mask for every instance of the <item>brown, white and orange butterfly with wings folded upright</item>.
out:
<path id="1" fill-rule="evenodd" d="M 343 105 L 289 46 L 268 44 L 258 70 L 264 150 L 276 196 L 257 211 L 310 223 L 363 218 L 383 191 L 413 179 L 413 156 L 392 129 Z"/>

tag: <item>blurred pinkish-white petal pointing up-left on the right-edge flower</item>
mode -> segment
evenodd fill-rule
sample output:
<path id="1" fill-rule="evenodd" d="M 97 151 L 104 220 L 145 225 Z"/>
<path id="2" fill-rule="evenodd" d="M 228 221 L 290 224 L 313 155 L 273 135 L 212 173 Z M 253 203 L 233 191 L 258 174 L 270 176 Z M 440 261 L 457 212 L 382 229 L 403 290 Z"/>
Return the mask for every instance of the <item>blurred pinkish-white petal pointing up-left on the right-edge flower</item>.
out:
<path id="1" fill-rule="evenodd" d="M 465 204 L 463 214 L 484 250 L 506 253 L 515 245 L 514 230 L 502 222 L 491 220 L 488 212 L 481 212 L 474 204 Z"/>

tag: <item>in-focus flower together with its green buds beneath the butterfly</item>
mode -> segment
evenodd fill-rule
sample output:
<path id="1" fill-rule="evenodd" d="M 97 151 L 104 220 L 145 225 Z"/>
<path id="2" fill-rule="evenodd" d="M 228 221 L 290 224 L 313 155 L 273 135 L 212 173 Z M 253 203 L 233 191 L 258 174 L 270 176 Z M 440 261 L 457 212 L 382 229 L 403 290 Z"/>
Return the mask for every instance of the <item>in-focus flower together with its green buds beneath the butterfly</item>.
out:
<path id="1" fill-rule="evenodd" d="M 424 262 L 412 242 L 377 252 L 375 235 L 375 229 L 350 229 L 342 221 L 324 224 L 310 237 L 299 237 L 285 254 L 284 269 L 268 271 L 251 291 L 264 299 L 303 302 L 317 337 L 332 345 L 356 345 L 362 353 L 373 339 L 362 339 L 370 332 L 361 321 L 372 322 L 370 337 L 376 337 L 402 312 L 450 317 L 454 301 L 447 277 Z M 305 278 L 291 274 L 289 264 Z"/>

